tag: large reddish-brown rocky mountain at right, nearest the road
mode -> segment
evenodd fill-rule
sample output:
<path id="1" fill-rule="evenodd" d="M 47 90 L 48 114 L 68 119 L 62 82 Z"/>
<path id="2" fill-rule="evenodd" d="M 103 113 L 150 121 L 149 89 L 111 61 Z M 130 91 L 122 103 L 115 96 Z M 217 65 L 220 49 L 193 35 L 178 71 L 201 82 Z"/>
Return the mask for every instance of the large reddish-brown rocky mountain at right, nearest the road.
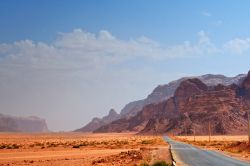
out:
<path id="1" fill-rule="evenodd" d="M 195 130 L 197 134 L 208 134 L 210 126 L 213 134 L 246 133 L 250 72 L 241 81 L 229 80 L 224 85 L 203 81 L 183 79 L 169 99 L 148 104 L 135 116 L 113 121 L 95 132 L 192 134 Z"/>

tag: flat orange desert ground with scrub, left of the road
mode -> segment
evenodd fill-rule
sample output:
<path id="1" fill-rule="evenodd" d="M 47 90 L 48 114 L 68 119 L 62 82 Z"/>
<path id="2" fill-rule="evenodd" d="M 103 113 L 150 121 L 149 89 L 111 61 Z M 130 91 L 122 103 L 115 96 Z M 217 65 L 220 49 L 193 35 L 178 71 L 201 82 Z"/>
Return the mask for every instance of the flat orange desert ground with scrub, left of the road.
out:
<path id="1" fill-rule="evenodd" d="M 165 160 L 169 146 L 160 136 L 135 133 L 1 133 L 0 166 L 142 165 Z"/>

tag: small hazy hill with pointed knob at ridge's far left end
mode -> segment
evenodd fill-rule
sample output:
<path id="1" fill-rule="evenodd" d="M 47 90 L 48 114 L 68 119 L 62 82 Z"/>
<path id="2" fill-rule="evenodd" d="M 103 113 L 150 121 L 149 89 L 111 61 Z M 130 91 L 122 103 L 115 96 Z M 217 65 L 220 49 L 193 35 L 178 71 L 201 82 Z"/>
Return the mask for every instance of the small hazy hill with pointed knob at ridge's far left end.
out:
<path id="1" fill-rule="evenodd" d="M 76 132 L 91 132 L 93 130 L 98 129 L 99 127 L 109 124 L 117 119 L 120 118 L 120 115 L 116 113 L 114 109 L 111 109 L 109 111 L 109 114 L 107 116 L 104 116 L 103 118 L 93 118 L 91 122 L 89 122 L 84 127 L 75 130 Z"/>

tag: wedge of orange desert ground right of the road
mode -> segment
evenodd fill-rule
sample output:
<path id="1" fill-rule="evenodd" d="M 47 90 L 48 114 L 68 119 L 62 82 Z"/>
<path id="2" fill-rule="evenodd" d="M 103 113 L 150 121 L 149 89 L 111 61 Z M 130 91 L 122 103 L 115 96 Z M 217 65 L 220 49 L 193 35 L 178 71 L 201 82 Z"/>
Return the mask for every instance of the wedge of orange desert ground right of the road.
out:
<path id="1" fill-rule="evenodd" d="M 199 146 L 200 148 L 217 150 L 234 158 L 250 161 L 250 144 L 246 135 L 211 136 L 174 136 L 175 140 Z"/>

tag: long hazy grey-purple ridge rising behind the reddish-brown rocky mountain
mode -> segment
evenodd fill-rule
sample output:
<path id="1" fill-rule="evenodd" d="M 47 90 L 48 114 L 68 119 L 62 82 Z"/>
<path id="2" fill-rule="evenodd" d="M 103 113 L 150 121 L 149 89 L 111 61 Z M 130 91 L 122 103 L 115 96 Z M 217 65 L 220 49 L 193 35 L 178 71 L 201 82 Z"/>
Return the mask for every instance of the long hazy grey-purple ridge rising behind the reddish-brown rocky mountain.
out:
<path id="1" fill-rule="evenodd" d="M 237 75 L 236 77 L 226 77 L 223 75 L 213 75 L 213 74 L 207 74 L 202 75 L 198 77 L 183 77 L 181 79 L 178 79 L 176 81 L 172 81 L 168 84 L 159 85 L 157 86 L 151 94 L 147 96 L 147 98 L 133 101 L 128 103 L 122 110 L 120 115 L 111 116 L 114 118 L 110 118 L 109 122 L 104 122 L 103 118 L 93 118 L 91 122 L 89 122 L 86 126 L 82 127 L 81 129 L 78 129 L 76 131 L 81 132 L 91 132 L 96 130 L 97 128 L 110 123 L 114 120 L 117 120 L 118 118 L 129 118 L 135 116 L 139 111 L 143 109 L 148 104 L 157 104 L 162 101 L 165 101 L 172 97 L 175 93 L 175 90 L 178 88 L 180 83 L 184 80 L 191 79 L 191 78 L 198 78 L 202 82 L 204 82 L 207 86 L 215 86 L 218 84 L 222 85 L 231 85 L 231 84 L 240 84 L 242 79 L 246 77 L 245 74 Z M 109 117 L 109 115 L 108 115 Z"/>

